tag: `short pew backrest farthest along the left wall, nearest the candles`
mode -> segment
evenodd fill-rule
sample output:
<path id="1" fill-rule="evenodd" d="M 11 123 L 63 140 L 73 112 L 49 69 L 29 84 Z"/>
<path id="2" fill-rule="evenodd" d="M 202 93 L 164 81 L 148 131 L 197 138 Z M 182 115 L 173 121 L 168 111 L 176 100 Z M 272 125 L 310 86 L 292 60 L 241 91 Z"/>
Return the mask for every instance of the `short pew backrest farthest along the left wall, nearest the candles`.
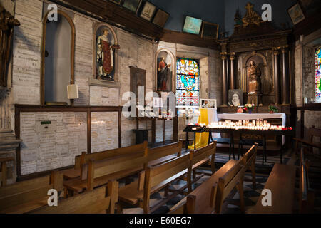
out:
<path id="1" fill-rule="evenodd" d="M 156 147 L 153 149 L 148 149 L 148 161 L 156 160 L 161 157 L 166 157 L 168 155 L 177 154 L 178 157 L 182 152 L 183 142 L 175 142 L 162 147 Z"/>

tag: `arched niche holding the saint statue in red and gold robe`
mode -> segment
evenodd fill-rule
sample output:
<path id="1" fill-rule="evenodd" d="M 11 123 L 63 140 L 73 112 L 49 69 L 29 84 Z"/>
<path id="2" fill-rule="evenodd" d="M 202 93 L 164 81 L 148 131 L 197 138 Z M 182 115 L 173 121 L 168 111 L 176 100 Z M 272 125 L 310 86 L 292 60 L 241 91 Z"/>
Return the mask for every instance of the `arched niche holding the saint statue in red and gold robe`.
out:
<path id="1" fill-rule="evenodd" d="M 120 49 L 116 33 L 107 24 L 99 24 L 94 33 L 95 77 L 96 79 L 115 81 L 115 53 Z"/>

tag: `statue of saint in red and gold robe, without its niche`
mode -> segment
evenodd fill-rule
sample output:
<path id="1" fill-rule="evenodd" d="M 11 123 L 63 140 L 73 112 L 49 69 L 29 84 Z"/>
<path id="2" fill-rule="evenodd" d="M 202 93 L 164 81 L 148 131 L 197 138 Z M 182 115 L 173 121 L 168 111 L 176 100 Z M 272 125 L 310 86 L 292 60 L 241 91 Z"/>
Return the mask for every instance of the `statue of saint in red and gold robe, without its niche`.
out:
<path id="1" fill-rule="evenodd" d="M 118 45 L 112 45 L 108 40 L 108 30 L 104 29 L 103 34 L 98 36 L 98 78 L 107 78 L 113 80 L 111 72 L 114 69 L 114 49 L 119 49 Z"/>

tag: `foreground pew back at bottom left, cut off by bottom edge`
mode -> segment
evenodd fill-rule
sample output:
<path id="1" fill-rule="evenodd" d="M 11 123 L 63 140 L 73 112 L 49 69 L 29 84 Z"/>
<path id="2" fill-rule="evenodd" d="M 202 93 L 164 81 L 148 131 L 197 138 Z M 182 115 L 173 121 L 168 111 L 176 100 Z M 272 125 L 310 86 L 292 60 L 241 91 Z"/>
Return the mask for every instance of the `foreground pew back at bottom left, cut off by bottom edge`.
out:
<path id="1" fill-rule="evenodd" d="M 108 187 L 76 195 L 58 202 L 58 207 L 41 207 L 31 214 L 101 214 L 114 213 L 115 199 L 118 197 L 118 182 L 109 181 Z"/>

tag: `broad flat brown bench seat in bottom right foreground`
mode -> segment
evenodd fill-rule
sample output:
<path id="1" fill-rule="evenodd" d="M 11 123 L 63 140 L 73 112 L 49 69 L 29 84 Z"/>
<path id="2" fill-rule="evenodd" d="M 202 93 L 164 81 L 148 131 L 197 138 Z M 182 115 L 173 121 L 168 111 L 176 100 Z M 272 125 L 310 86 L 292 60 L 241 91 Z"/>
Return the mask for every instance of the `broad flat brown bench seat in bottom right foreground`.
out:
<path id="1" fill-rule="evenodd" d="M 295 166 L 275 164 L 264 189 L 271 190 L 272 207 L 264 207 L 263 195 L 250 209 L 250 214 L 292 214 L 295 193 Z"/>

